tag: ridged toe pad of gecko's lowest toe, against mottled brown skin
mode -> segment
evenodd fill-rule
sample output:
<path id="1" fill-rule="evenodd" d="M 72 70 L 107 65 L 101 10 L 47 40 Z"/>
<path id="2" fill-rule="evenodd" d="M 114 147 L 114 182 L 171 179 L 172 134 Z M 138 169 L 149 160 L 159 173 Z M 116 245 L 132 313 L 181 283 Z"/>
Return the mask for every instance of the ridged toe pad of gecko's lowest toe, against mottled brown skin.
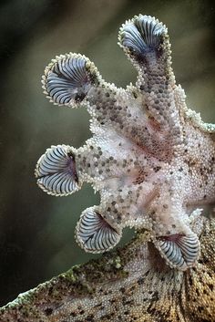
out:
<path id="1" fill-rule="evenodd" d="M 196 234 L 176 234 L 154 240 L 161 256 L 172 268 L 185 271 L 195 265 L 200 256 L 200 241 Z"/>

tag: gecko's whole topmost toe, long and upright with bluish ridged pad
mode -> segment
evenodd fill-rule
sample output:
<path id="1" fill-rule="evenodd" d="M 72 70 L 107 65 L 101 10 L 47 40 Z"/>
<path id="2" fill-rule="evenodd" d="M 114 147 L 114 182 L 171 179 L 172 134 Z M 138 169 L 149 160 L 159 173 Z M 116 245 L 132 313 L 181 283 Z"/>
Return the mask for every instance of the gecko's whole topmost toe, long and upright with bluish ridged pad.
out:
<path id="1" fill-rule="evenodd" d="M 138 69 L 137 88 L 151 119 L 169 146 L 182 141 L 180 103 L 175 101 L 175 78 L 167 27 L 151 16 L 134 16 L 119 30 L 119 46 Z"/>

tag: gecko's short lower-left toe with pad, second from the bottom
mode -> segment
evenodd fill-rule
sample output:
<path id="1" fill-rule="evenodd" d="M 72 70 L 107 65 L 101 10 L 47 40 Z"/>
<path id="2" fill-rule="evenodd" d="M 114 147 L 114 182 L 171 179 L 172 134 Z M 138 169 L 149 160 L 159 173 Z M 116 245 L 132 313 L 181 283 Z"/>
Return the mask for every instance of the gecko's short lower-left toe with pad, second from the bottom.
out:
<path id="1" fill-rule="evenodd" d="M 145 190 L 145 198 L 141 185 L 128 186 L 125 191 L 105 188 L 100 192 L 100 205 L 87 208 L 77 223 L 77 243 L 87 252 L 103 253 L 113 248 L 125 226 L 151 228 L 150 219 L 144 214 L 149 189 Z"/>

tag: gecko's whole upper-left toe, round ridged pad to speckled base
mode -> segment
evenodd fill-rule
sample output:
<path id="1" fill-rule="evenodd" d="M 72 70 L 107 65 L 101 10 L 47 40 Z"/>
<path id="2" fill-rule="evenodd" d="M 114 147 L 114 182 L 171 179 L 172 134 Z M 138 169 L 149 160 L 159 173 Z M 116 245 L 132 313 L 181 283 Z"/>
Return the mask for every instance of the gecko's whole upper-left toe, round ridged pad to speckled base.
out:
<path id="1" fill-rule="evenodd" d="M 47 98 L 54 104 L 87 105 L 93 132 L 106 130 L 111 124 L 119 135 L 138 146 L 147 146 L 150 152 L 159 147 L 165 150 L 165 136 L 159 132 L 158 122 L 148 122 L 144 101 L 105 83 L 87 57 L 73 53 L 56 57 L 47 66 L 42 82 Z"/>

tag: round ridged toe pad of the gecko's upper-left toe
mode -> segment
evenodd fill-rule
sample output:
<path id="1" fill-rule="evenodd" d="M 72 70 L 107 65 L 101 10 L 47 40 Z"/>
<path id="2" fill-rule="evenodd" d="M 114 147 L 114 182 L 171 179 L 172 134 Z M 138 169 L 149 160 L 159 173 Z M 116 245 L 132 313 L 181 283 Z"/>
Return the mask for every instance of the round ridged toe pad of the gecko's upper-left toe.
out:
<path id="1" fill-rule="evenodd" d="M 85 56 L 69 53 L 53 59 L 42 77 L 50 101 L 59 106 L 76 106 L 97 83 L 97 68 Z"/>

